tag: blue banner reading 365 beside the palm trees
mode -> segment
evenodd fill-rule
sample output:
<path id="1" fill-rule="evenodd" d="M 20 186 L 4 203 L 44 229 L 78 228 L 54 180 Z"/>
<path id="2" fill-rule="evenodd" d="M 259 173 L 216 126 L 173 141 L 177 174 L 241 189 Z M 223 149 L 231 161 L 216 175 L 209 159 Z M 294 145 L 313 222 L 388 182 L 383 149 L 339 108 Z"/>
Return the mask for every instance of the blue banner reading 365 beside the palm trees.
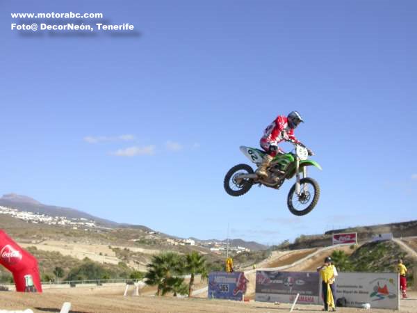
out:
<path id="1" fill-rule="evenodd" d="M 243 272 L 212 272 L 208 275 L 208 298 L 243 300 L 248 281 Z"/>

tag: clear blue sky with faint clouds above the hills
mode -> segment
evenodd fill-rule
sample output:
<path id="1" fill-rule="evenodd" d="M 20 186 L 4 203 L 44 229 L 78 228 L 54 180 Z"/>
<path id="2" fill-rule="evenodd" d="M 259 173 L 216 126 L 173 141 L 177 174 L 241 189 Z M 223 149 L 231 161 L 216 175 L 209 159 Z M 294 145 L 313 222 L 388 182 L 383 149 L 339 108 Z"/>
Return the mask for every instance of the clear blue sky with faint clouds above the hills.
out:
<path id="1" fill-rule="evenodd" d="M 415 1 L 1 1 L 0 193 L 177 236 L 279 243 L 416 219 Z M 10 30 L 10 13 L 103 13 L 140 35 Z M 62 21 L 61 21 L 62 22 Z M 94 20 L 84 21 L 94 24 Z M 323 171 L 316 209 L 231 198 L 278 114 Z M 288 146 L 284 146 L 288 148 Z"/>

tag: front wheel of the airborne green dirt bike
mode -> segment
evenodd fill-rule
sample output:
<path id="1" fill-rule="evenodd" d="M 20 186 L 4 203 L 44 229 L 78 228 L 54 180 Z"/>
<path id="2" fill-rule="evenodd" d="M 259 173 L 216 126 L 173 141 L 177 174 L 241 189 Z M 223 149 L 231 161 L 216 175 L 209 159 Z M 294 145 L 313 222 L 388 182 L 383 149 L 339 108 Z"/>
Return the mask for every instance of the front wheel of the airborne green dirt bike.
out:
<path id="1" fill-rule="evenodd" d="M 303 216 L 309 214 L 320 198 L 320 186 L 310 177 L 300 179 L 300 195 L 295 193 L 295 184 L 288 193 L 287 205 L 292 214 Z"/>

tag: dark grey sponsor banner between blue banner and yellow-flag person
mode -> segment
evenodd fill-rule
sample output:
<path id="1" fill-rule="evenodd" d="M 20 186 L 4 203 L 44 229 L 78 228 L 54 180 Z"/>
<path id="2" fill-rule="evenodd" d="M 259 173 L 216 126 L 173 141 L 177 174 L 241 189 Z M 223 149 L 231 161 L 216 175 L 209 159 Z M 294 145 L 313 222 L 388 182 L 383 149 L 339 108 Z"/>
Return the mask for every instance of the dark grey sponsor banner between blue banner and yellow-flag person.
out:
<path id="1" fill-rule="evenodd" d="M 263 302 L 319 303 L 319 273 L 256 271 L 255 300 Z"/>

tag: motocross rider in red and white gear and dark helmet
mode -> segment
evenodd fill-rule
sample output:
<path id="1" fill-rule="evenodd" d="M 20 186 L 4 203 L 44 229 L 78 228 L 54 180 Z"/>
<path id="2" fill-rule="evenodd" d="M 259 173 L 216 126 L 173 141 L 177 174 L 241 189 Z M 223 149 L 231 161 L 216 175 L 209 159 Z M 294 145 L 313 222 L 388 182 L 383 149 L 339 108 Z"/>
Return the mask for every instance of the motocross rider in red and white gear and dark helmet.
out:
<path id="1" fill-rule="evenodd" d="M 267 169 L 268 166 L 270 166 L 272 159 L 274 159 L 277 154 L 284 153 L 284 151 L 278 147 L 278 143 L 281 143 L 281 141 L 293 141 L 294 143 L 302 145 L 302 143 L 294 136 L 294 129 L 297 128 L 301 122 L 304 122 L 304 120 L 300 113 L 292 111 L 288 116 L 279 115 L 268 127 L 266 127 L 263 132 L 263 137 L 261 138 L 261 147 L 265 150 L 266 154 L 265 157 L 263 157 L 261 165 L 256 170 L 256 175 L 260 178 L 268 177 Z M 310 149 L 307 150 L 309 155 L 313 155 L 313 151 Z"/>

